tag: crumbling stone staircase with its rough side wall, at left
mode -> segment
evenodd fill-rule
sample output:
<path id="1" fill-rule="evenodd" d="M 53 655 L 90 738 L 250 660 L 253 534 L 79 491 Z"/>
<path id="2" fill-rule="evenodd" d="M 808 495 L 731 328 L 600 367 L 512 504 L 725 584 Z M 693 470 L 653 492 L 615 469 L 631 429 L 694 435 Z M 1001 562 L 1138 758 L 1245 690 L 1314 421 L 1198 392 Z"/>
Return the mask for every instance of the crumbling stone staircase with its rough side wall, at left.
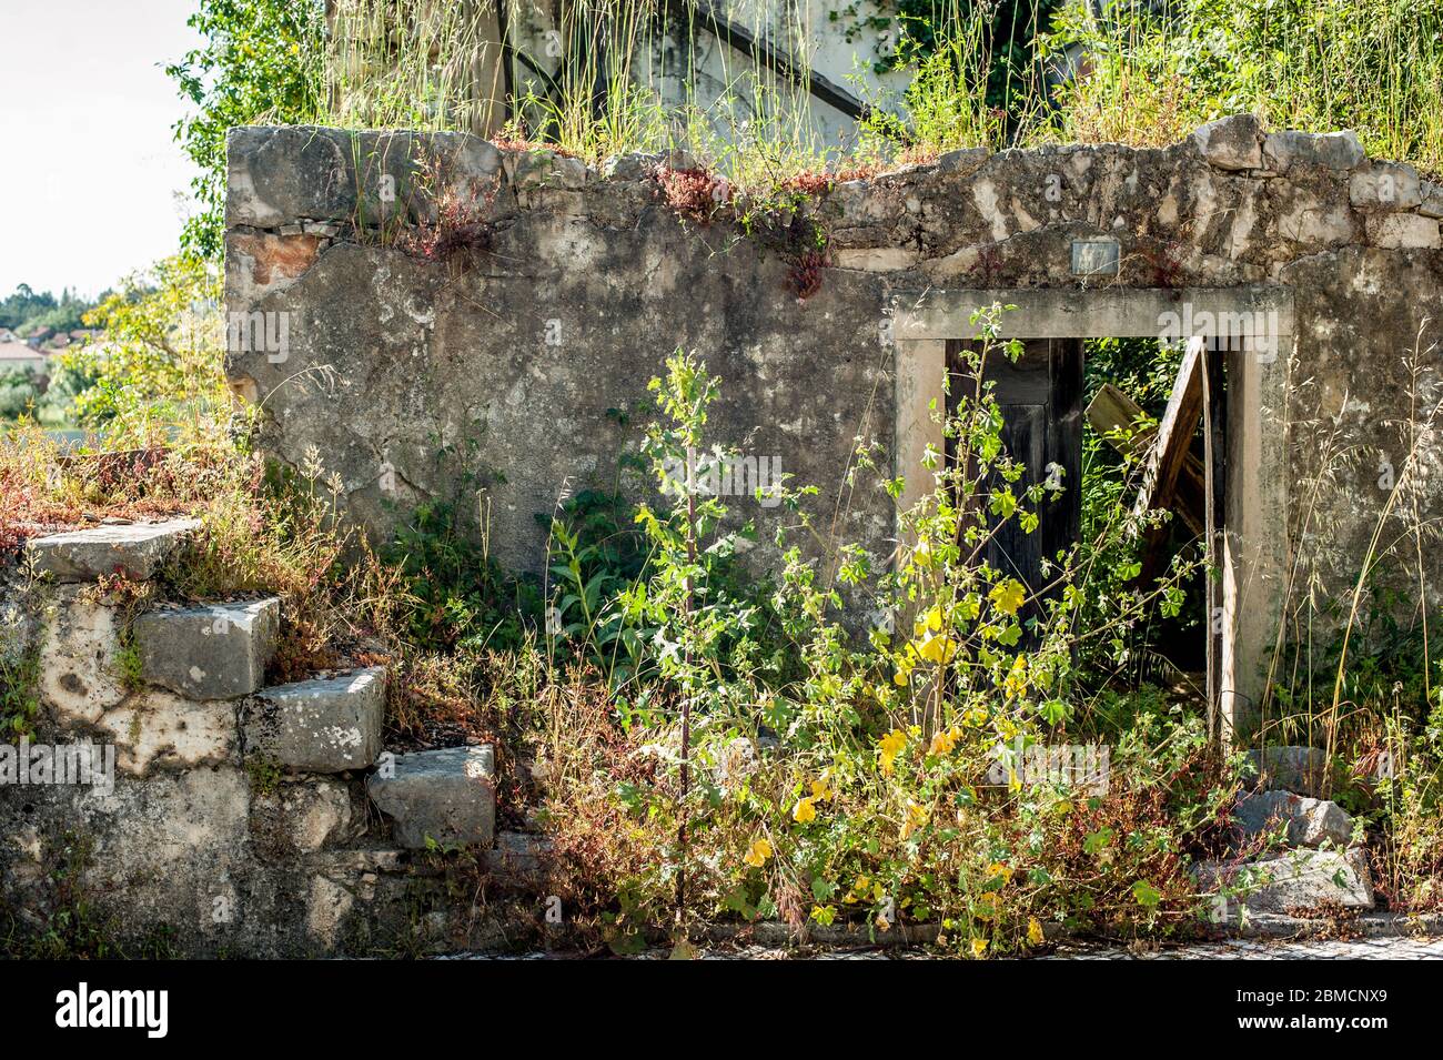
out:
<path id="1" fill-rule="evenodd" d="M 97 591 L 117 573 L 153 580 L 196 528 L 105 525 L 26 544 L 45 575 L 29 609 L 46 712 L 36 740 L 113 744 L 115 779 L 39 800 L 32 789 L 25 805 L 0 787 L 0 834 L 19 836 L 0 851 L 0 883 L 39 883 L 29 862 L 42 835 L 84 831 L 88 881 L 127 926 L 165 926 L 186 952 L 336 952 L 404 932 L 413 851 L 489 854 L 494 748 L 387 751 L 382 666 L 267 685 L 276 597 L 130 617 Z"/>

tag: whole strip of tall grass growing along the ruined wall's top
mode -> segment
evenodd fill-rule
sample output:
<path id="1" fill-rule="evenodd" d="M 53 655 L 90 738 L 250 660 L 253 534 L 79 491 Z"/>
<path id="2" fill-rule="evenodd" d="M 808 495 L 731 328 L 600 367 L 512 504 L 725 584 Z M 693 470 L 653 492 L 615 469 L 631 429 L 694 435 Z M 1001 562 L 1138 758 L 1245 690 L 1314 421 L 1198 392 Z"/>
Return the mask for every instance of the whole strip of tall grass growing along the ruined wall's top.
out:
<path id="1" fill-rule="evenodd" d="M 870 115 L 841 137 L 848 123 L 825 117 L 795 78 L 810 75 L 825 27 L 811 4 L 768 0 L 733 3 L 726 17 L 791 76 L 717 40 L 696 4 L 563 0 L 543 13 L 521 0 L 339 0 L 315 63 L 317 120 L 489 136 L 509 121 L 512 138 L 593 163 L 687 147 L 746 186 L 758 173 L 776 180 L 970 146 L 1166 146 L 1202 121 L 1254 111 L 1274 127 L 1354 128 L 1375 156 L 1443 170 L 1437 6 L 1182 0 L 1163 16 L 1115 0 L 1063 4 L 1056 17 L 1040 0 L 906 7 L 887 55 L 857 39 L 847 79 Z M 1072 76 L 1049 85 L 1063 66 Z"/>

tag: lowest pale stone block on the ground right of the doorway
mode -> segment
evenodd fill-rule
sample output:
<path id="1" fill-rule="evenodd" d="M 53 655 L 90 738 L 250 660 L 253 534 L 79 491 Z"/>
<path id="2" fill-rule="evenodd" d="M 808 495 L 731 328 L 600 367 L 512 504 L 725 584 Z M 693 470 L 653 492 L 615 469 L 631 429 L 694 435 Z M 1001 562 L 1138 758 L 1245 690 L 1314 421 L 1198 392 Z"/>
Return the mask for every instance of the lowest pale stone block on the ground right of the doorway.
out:
<path id="1" fill-rule="evenodd" d="M 1242 864 L 1198 867 L 1203 893 L 1238 891 L 1227 900 L 1227 917 L 1250 913 L 1299 913 L 1316 907 L 1372 909 L 1372 874 L 1361 847 L 1348 851 L 1289 851 Z M 1221 898 L 1221 896 L 1219 896 Z M 1221 900 L 1219 900 L 1221 911 Z"/>

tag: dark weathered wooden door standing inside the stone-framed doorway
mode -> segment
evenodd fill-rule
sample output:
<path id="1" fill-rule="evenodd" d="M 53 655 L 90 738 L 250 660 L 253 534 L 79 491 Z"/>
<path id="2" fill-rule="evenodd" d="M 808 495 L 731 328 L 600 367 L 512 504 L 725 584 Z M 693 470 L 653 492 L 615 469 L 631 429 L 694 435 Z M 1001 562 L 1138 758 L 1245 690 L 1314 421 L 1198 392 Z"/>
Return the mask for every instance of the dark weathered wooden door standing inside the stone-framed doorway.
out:
<path id="1" fill-rule="evenodd" d="M 970 374 L 965 346 L 962 342 L 947 345 L 947 368 L 952 374 L 949 412 L 955 411 L 958 395 L 973 391 L 958 378 Z M 993 395 L 1001 407 L 1003 446 L 1026 469 L 1013 485 L 1013 493 L 1022 498 L 1032 483 L 1046 482 L 1053 474 L 1062 486 L 1059 495 L 1045 495 L 1039 502 L 1038 529 L 1025 534 L 1013 516 L 984 554 L 990 565 L 1022 581 L 1030 596 L 1056 578 L 1056 571 L 1043 574 L 1043 558 L 1055 561 L 1082 532 L 1082 340 L 1027 340 L 1016 363 L 993 350 L 983 376 L 996 384 Z M 949 453 L 948 459 L 954 456 Z M 1035 613 L 1029 607 L 1025 617 Z"/>

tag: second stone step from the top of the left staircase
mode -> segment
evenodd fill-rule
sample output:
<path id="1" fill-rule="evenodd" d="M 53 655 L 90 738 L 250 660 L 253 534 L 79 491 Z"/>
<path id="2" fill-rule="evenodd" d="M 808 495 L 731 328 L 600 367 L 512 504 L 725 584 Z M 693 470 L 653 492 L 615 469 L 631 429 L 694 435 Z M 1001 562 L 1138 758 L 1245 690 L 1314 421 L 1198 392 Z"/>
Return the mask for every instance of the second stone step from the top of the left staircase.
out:
<path id="1" fill-rule="evenodd" d="M 131 632 L 141 676 L 190 699 L 258 692 L 280 635 L 280 600 L 242 600 L 147 611 Z"/>

